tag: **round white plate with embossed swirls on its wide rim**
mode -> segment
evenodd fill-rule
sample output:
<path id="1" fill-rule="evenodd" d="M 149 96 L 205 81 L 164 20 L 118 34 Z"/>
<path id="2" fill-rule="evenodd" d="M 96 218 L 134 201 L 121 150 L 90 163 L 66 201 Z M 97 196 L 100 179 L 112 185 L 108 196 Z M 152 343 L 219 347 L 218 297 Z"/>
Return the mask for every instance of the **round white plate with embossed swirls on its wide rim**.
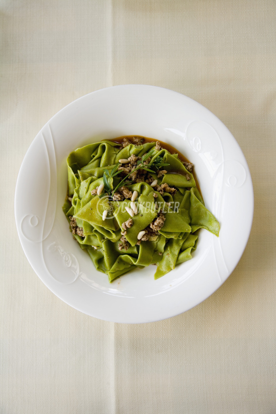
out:
<path id="1" fill-rule="evenodd" d="M 68 154 L 122 135 L 157 138 L 193 164 L 219 238 L 201 230 L 192 260 L 154 280 L 155 266 L 113 283 L 79 248 L 62 212 Z M 15 217 L 22 247 L 43 283 L 70 306 L 96 318 L 143 323 L 169 318 L 210 296 L 233 272 L 253 218 L 253 188 L 244 155 L 223 123 L 177 92 L 145 85 L 101 89 L 70 103 L 38 133 L 19 171 Z"/>

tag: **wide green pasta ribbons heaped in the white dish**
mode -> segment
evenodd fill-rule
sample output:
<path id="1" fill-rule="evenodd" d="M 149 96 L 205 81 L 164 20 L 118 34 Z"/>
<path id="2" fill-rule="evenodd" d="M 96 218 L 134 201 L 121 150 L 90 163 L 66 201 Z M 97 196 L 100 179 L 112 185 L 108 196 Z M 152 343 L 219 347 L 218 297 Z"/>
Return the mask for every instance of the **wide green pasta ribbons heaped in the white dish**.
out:
<path id="1" fill-rule="evenodd" d="M 149 165 L 145 167 L 151 170 L 147 172 L 147 177 L 157 179 L 157 187 L 153 188 L 146 182 L 135 183 L 131 178 L 122 183 L 131 193 L 134 190 L 138 193 L 135 200 L 138 214 L 132 217 L 133 224 L 125 233 L 128 245 L 125 250 L 122 249 L 120 238 L 121 232 L 125 232 L 123 223 L 130 219 L 125 207 L 131 208 L 131 200 L 112 199 L 112 192 L 124 178 L 119 172 L 113 174 L 118 170 L 120 159 L 128 159 L 132 154 L 143 157 L 150 151 Z M 166 164 L 165 167 L 159 167 L 160 170 L 166 169 L 166 173 L 160 177 L 158 167 L 152 164 L 155 160 L 156 163 L 161 160 L 161 163 Z M 192 173 L 187 171 L 177 154 L 170 154 L 160 147 L 158 149 L 156 142 L 140 145 L 130 143 L 124 148 L 113 141 L 96 142 L 71 152 L 67 167 L 68 195 L 63 211 L 67 220 L 72 223 L 73 219 L 78 229 L 76 232 L 71 226 L 74 238 L 87 251 L 96 269 L 108 274 L 109 282 L 135 267 L 143 268 L 151 264 L 157 265 L 154 278 L 158 279 L 174 269 L 175 265 L 192 258 L 191 253 L 196 248 L 198 238 L 194 232 L 198 229 L 209 230 L 218 236 L 219 223 L 204 206 Z M 161 195 L 162 191 L 160 193 L 156 188 L 165 183 L 175 188 L 176 193 L 165 190 Z M 95 189 L 101 184 L 105 188 L 99 196 L 95 194 Z M 105 193 L 107 185 L 109 195 Z M 103 219 L 105 210 L 108 211 L 107 217 Z M 137 244 L 139 232 L 160 214 L 166 217 L 162 228 L 149 240 Z"/>

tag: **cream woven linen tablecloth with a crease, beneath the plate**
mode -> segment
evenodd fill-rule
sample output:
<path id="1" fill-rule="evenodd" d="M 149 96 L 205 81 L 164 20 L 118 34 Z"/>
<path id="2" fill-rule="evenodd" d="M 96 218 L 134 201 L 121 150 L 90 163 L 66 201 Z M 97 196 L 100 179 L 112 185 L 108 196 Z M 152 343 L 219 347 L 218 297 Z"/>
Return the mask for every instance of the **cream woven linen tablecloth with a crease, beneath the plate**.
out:
<path id="1" fill-rule="evenodd" d="M 276 3 L 2 0 L 1 414 L 276 413 Z M 97 320 L 32 270 L 14 221 L 22 159 L 74 99 L 152 84 L 199 101 L 245 154 L 252 232 L 228 280 L 161 322 Z M 237 235 L 240 229 L 237 229 Z"/>

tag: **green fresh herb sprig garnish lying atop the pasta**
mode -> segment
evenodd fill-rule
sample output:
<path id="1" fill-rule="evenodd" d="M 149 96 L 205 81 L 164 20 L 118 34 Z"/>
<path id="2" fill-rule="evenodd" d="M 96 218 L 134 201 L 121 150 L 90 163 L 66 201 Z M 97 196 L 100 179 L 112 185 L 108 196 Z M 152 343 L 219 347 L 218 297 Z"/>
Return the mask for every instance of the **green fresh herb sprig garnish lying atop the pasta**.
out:
<path id="1" fill-rule="evenodd" d="M 110 185 L 110 178 L 117 176 L 121 171 L 117 171 L 120 163 L 116 164 L 112 170 L 105 169 L 103 171 L 103 185 L 105 189 L 105 193 L 108 193 L 111 197 L 113 197 L 114 193 L 118 190 L 118 188 L 122 187 L 122 185 L 125 183 L 125 180 L 127 177 L 130 176 L 130 174 L 134 173 L 134 171 L 138 171 L 140 169 L 146 170 L 149 173 L 156 173 L 152 168 L 156 168 L 159 170 L 159 168 L 163 166 L 167 166 L 169 164 L 163 163 L 163 158 L 161 156 L 156 157 L 156 159 L 152 162 L 149 162 L 149 164 L 145 164 L 145 161 L 155 152 L 155 148 L 151 149 L 149 152 L 144 154 L 142 156 L 142 160 L 139 160 L 137 162 L 137 167 L 134 168 L 134 170 L 130 171 L 127 176 L 125 176 L 120 183 L 116 186 L 115 190 L 112 191 L 111 185 Z M 126 184 L 126 183 L 125 183 Z M 102 193 L 99 197 L 103 197 L 105 193 Z"/>

